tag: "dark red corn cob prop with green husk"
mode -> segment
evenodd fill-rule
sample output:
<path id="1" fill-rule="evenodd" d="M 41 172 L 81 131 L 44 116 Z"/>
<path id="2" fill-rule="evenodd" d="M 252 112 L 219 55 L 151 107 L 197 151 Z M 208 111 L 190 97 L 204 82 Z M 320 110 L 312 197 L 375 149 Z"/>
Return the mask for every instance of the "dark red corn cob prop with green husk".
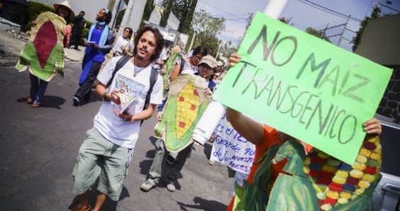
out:
<path id="1" fill-rule="evenodd" d="M 66 22 L 52 12 L 40 13 L 36 22 L 30 40 L 21 50 L 16 70 L 21 72 L 29 67 L 30 73 L 41 80 L 50 81 L 55 72 L 60 75 L 64 72 L 64 36 L 61 31 L 65 30 Z"/>

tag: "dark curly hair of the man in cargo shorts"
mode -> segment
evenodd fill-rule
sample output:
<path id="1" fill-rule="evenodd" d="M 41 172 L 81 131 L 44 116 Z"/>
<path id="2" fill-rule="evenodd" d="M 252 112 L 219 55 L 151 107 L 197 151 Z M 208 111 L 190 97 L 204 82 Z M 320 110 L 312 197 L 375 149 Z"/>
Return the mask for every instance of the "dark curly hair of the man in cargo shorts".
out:
<path id="1" fill-rule="evenodd" d="M 138 54 L 139 39 L 143 36 L 143 33 L 145 33 L 146 31 L 151 31 L 157 40 L 155 53 L 150 57 L 150 63 L 152 63 L 155 60 L 157 60 L 157 58 L 160 57 L 162 48 L 164 48 L 164 43 L 165 43 L 164 37 L 162 36 L 160 31 L 158 31 L 157 28 L 154 28 L 152 26 L 143 26 L 142 28 L 139 28 L 137 35 L 135 36 L 135 48 L 133 49 L 133 56 L 136 56 L 136 54 Z"/>

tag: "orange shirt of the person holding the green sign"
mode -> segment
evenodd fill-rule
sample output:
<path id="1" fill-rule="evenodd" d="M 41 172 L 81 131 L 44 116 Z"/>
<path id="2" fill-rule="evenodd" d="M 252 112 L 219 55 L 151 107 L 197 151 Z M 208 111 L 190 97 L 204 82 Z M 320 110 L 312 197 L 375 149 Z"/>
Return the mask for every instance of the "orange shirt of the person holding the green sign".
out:
<path id="1" fill-rule="evenodd" d="M 264 125 L 264 136 L 262 136 L 262 140 L 261 140 L 260 144 L 255 144 L 254 161 L 260 160 L 260 158 L 262 157 L 262 154 L 274 144 L 281 144 L 281 141 L 279 139 L 279 131 L 277 131 L 277 129 L 274 129 L 270 126 Z M 309 153 L 309 151 L 311 151 L 311 149 L 313 148 L 313 146 L 305 144 L 305 143 L 303 143 L 303 146 L 304 146 L 304 150 L 306 151 L 306 153 Z M 283 173 L 282 169 L 284 168 L 286 163 L 287 163 L 287 159 L 284 159 L 283 161 L 272 165 L 273 180 L 275 180 L 277 178 L 279 173 Z M 258 168 L 260 168 L 261 164 L 262 164 L 262 162 L 252 165 L 248 179 L 247 179 L 250 184 L 252 184 L 252 178 L 254 177 Z M 232 200 L 230 200 L 230 203 L 228 205 L 228 208 L 226 208 L 226 211 L 233 210 L 234 200 L 235 200 L 235 196 L 233 196 Z"/>

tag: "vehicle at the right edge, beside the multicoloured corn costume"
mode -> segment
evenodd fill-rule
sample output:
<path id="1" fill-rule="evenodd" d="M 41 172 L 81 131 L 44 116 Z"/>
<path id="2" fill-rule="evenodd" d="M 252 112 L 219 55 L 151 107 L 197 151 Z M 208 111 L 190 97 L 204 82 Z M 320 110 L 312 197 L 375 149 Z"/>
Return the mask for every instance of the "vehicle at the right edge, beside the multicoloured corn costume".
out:
<path id="1" fill-rule="evenodd" d="M 400 124 L 376 114 L 381 121 L 382 180 L 374 190 L 374 211 L 400 211 Z"/>

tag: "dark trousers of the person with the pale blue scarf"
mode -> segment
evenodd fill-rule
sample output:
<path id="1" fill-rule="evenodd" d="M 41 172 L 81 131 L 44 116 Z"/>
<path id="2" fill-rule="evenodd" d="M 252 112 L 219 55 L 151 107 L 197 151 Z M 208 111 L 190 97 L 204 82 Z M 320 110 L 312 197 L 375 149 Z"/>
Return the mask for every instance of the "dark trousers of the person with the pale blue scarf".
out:
<path id="1" fill-rule="evenodd" d="M 84 80 L 82 85 L 80 85 L 79 89 L 75 93 L 75 97 L 77 97 L 80 102 L 89 99 L 91 93 L 91 85 L 93 85 L 94 80 L 96 80 L 97 74 L 99 74 L 100 67 L 101 62 L 93 61 L 93 63 L 91 64 L 86 80 Z"/>

